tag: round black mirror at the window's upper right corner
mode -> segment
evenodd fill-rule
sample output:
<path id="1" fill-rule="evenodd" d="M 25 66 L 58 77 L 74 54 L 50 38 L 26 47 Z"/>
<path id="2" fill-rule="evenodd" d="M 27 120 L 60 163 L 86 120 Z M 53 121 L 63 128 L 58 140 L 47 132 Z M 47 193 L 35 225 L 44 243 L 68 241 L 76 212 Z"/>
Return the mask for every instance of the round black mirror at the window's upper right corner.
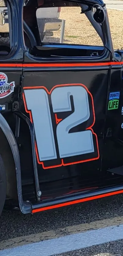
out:
<path id="1" fill-rule="evenodd" d="M 103 23 L 105 20 L 105 12 L 103 10 L 103 7 L 100 5 L 93 5 L 92 9 L 91 9 L 91 14 L 93 19 L 97 22 L 97 23 Z"/>

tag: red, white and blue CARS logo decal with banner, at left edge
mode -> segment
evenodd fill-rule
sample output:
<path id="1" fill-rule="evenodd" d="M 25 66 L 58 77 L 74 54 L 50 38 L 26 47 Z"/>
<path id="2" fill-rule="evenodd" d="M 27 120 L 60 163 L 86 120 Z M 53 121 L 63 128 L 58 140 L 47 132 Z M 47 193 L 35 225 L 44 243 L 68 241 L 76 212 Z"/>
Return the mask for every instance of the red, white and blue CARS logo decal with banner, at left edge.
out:
<path id="1" fill-rule="evenodd" d="M 7 97 L 14 91 L 15 82 L 8 83 L 7 75 L 0 73 L 0 99 Z"/>

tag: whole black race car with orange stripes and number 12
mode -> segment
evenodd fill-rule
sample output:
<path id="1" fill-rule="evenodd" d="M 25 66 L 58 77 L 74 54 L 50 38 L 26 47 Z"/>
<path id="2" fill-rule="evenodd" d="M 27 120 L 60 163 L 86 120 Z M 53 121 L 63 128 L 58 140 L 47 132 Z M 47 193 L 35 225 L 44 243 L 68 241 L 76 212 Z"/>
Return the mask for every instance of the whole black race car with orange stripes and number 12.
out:
<path id="1" fill-rule="evenodd" d="M 123 51 L 113 49 L 105 4 L 10 0 L 5 5 L 9 45 L 0 46 L 0 214 L 4 204 L 26 214 L 121 194 Z M 36 10 L 49 7 L 79 8 L 103 46 L 42 42 Z"/>

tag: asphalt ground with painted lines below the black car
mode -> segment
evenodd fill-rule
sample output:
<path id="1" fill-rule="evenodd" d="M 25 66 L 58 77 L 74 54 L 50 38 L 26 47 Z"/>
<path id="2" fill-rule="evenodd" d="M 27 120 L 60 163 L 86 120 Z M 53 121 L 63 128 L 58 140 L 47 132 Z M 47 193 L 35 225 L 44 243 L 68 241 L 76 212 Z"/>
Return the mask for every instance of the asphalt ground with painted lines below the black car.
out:
<path id="1" fill-rule="evenodd" d="M 0 256 L 123 255 L 123 195 L 0 218 Z"/>

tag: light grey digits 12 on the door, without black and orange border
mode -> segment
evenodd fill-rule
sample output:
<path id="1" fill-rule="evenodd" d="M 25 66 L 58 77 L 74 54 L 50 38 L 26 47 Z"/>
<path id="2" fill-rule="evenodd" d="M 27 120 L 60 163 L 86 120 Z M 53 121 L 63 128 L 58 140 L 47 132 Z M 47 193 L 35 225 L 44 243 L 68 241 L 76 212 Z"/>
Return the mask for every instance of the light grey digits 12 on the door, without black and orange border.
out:
<path id="1" fill-rule="evenodd" d="M 39 160 L 57 159 L 47 89 L 25 89 L 25 101 L 32 114 Z M 73 96 L 74 112 L 56 127 L 60 158 L 94 152 L 92 130 L 70 132 L 90 117 L 88 93 L 83 86 L 56 86 L 51 92 L 53 112 L 71 112 L 70 96 Z"/>

